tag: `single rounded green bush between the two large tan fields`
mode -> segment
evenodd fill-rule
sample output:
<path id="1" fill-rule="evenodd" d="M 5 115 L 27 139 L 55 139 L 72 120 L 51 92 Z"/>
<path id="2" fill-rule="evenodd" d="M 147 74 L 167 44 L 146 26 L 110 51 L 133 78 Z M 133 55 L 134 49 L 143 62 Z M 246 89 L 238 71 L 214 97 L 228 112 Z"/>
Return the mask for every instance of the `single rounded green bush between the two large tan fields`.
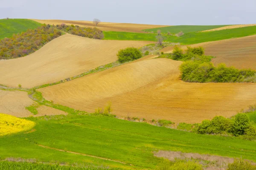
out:
<path id="1" fill-rule="evenodd" d="M 121 49 L 116 55 L 118 56 L 118 61 L 121 63 L 132 61 L 142 57 L 140 50 L 134 47 Z"/>

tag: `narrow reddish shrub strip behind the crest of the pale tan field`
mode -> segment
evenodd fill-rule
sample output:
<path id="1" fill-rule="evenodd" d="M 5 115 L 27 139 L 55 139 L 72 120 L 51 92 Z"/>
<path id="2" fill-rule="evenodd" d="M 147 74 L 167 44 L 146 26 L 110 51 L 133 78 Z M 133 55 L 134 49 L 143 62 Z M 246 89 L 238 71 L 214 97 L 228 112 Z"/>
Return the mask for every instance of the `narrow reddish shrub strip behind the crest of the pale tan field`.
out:
<path id="1" fill-rule="evenodd" d="M 58 30 L 67 32 L 69 34 L 73 34 L 81 37 L 88 37 L 88 38 L 94 38 L 99 40 L 104 38 L 103 32 L 96 27 L 90 28 L 90 27 L 79 27 L 74 25 L 68 26 L 62 23 L 60 25 L 56 25 L 56 28 Z"/>

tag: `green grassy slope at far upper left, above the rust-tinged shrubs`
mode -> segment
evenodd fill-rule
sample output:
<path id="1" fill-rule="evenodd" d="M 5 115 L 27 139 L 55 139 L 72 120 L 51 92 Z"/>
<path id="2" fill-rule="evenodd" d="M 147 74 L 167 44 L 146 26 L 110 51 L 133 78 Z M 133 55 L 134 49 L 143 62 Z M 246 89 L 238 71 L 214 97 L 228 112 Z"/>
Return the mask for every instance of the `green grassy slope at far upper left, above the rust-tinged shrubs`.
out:
<path id="1" fill-rule="evenodd" d="M 2 19 L 0 20 L 0 39 L 12 37 L 12 34 L 21 33 L 27 29 L 35 29 L 40 23 L 27 19 Z"/>

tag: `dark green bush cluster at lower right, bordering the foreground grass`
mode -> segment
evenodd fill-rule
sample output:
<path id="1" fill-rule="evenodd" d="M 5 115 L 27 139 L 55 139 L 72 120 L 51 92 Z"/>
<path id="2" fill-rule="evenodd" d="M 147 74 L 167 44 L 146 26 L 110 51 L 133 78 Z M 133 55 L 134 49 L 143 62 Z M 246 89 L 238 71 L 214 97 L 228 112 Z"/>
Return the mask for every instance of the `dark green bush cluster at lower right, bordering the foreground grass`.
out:
<path id="1" fill-rule="evenodd" d="M 230 134 L 247 140 L 256 139 L 256 127 L 246 113 L 238 113 L 232 119 L 215 116 L 212 120 L 196 124 L 193 131 L 199 134 Z"/>

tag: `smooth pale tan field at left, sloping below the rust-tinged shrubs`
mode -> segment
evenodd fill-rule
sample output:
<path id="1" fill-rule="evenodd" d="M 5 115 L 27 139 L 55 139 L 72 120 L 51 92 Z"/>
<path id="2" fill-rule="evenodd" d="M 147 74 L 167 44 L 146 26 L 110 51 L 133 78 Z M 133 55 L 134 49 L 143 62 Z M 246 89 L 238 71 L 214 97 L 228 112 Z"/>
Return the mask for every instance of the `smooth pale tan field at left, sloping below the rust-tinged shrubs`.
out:
<path id="1" fill-rule="evenodd" d="M 95 40 L 65 34 L 26 57 L 0 61 L 0 84 L 32 88 L 58 82 L 116 61 L 119 49 L 138 48 L 150 43 Z"/>

